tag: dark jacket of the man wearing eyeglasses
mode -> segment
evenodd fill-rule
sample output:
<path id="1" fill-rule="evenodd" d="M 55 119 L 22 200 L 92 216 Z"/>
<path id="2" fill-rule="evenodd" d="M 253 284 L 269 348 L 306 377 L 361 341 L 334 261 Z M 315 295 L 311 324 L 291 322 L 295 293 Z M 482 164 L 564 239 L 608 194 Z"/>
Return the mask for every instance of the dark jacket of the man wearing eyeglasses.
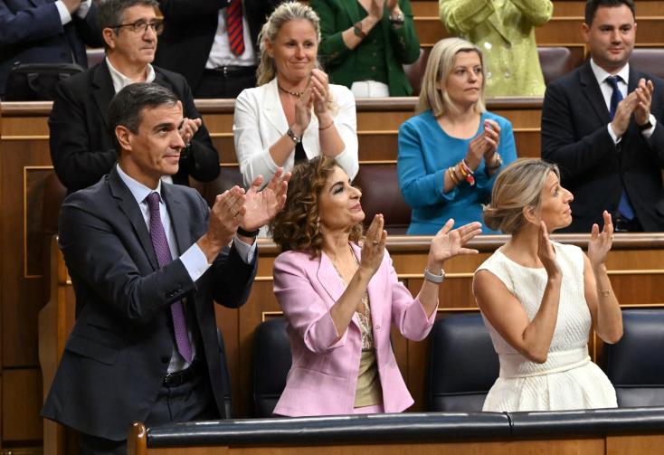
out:
<path id="1" fill-rule="evenodd" d="M 183 115 L 200 118 L 185 78 L 157 67 L 155 72 L 155 83 L 173 90 L 182 101 Z M 113 96 L 113 81 L 105 61 L 58 84 L 49 118 L 51 159 L 55 173 L 70 193 L 97 183 L 118 161 L 107 112 Z M 189 175 L 202 182 L 219 175 L 219 156 L 204 125 L 180 156 L 173 182 L 188 185 Z"/>

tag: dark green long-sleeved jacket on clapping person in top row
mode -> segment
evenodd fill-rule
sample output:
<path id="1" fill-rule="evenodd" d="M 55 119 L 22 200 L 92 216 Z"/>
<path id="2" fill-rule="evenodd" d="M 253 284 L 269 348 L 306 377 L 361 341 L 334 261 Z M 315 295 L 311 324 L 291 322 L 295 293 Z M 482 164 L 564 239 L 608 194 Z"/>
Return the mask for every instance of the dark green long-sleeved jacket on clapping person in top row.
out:
<path id="1" fill-rule="evenodd" d="M 420 42 L 415 33 L 410 0 L 398 2 L 404 15 L 403 26 L 390 24 L 385 8 L 381 22 L 351 50 L 346 47 L 341 33 L 366 16 L 362 5 L 356 0 L 311 0 L 311 7 L 320 17 L 322 36 L 318 57 L 331 82 L 350 88 L 355 81 L 381 81 L 387 83 L 392 97 L 413 93 L 402 65 L 418 59 Z M 376 75 L 375 71 L 381 74 Z"/>

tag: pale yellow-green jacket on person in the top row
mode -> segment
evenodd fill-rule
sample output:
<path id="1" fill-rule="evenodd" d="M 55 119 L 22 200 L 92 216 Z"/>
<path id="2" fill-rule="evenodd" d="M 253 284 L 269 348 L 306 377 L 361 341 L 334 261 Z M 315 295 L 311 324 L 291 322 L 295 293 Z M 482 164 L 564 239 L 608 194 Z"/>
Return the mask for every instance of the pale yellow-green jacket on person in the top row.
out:
<path id="1" fill-rule="evenodd" d="M 487 67 L 487 96 L 542 96 L 535 27 L 551 19 L 550 0 L 439 0 L 448 32 L 475 43 Z"/>

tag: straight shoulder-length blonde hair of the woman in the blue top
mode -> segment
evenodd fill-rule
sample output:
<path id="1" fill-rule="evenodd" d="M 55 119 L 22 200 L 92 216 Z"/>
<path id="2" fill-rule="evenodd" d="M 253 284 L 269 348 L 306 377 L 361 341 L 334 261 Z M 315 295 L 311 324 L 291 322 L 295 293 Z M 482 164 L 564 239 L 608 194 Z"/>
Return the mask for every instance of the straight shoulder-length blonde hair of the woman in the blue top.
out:
<path id="1" fill-rule="evenodd" d="M 482 88 L 479 101 L 473 109 L 477 113 L 486 110 L 484 106 L 484 89 L 487 85 L 487 70 L 484 66 L 484 55 L 479 47 L 461 38 L 445 38 L 436 43 L 432 52 L 429 54 L 429 60 L 426 63 L 424 76 L 422 77 L 422 90 L 420 98 L 417 101 L 415 112 L 420 114 L 425 110 L 432 109 L 433 117 L 439 118 L 456 109 L 450 100 L 445 85 L 447 78 L 450 77 L 454 69 L 454 59 L 459 52 L 477 52 L 479 63 L 482 65 Z M 442 88 L 439 88 L 439 84 Z"/>

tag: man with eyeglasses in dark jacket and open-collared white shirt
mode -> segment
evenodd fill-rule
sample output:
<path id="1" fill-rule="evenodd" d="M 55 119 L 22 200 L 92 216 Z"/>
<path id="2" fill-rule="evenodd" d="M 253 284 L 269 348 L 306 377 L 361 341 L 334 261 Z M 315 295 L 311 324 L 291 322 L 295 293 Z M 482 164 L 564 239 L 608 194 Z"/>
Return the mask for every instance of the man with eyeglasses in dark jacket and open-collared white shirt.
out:
<path id="1" fill-rule="evenodd" d="M 106 110 L 113 96 L 134 82 L 155 82 L 172 90 L 183 104 L 185 119 L 179 131 L 186 147 L 177 173 L 163 180 L 188 185 L 190 176 L 207 182 L 219 175 L 219 156 L 185 78 L 151 64 L 163 28 L 156 7 L 156 0 L 101 0 L 97 22 L 106 58 L 58 85 L 49 118 L 51 158 L 69 193 L 94 185 L 118 161 Z"/>

